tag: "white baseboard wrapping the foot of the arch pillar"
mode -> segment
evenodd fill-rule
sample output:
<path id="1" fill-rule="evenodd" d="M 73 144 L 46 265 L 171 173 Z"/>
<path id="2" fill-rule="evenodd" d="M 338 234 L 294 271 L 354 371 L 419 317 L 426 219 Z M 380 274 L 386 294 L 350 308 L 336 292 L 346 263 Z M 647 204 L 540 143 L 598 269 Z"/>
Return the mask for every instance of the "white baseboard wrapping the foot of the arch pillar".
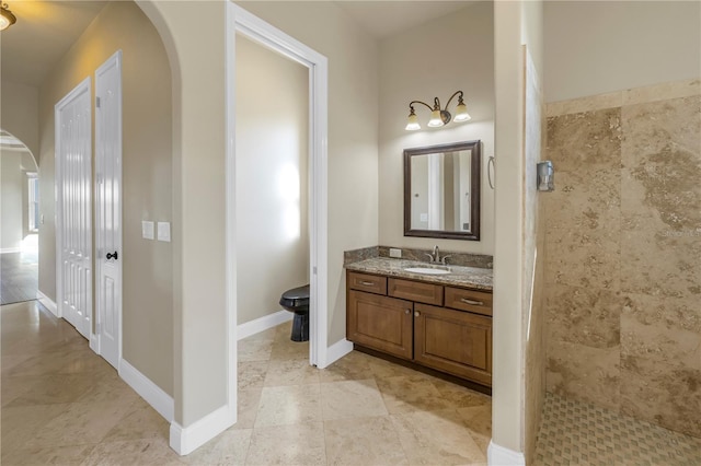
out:
<path id="1" fill-rule="evenodd" d="M 228 406 L 222 406 L 186 428 L 173 421 L 171 422 L 171 448 L 179 455 L 187 455 L 229 429 L 234 422 L 235 410 Z"/>

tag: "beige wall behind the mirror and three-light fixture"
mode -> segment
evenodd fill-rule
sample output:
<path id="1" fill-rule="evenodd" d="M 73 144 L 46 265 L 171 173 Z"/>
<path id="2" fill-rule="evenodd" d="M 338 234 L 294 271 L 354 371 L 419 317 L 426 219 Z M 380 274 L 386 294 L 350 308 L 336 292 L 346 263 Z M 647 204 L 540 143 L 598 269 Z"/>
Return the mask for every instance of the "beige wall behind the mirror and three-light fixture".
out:
<path id="1" fill-rule="evenodd" d="M 411 7 L 406 7 L 411 8 Z M 493 254 L 494 190 L 486 179 L 494 155 L 494 26 L 492 2 L 478 2 L 380 43 L 379 242 L 400 247 Z M 406 131 L 409 103 L 428 104 L 464 92 L 472 120 L 427 128 L 429 112 L 415 106 L 422 123 Z M 450 104 L 455 113 L 457 100 Z M 403 150 L 480 139 L 482 141 L 482 214 L 479 242 L 404 236 Z"/>

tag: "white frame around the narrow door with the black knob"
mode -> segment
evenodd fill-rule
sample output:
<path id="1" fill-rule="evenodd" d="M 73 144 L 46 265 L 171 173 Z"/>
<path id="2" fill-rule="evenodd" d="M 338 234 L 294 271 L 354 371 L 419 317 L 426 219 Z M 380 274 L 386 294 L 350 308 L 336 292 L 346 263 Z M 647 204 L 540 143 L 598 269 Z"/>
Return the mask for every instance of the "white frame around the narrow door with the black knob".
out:
<path id="1" fill-rule="evenodd" d="M 99 78 L 101 77 L 101 74 L 106 71 L 110 68 L 117 68 L 119 70 L 119 96 L 118 96 L 118 114 L 119 117 L 117 118 L 117 125 L 118 125 L 118 132 L 119 132 L 119 137 L 117 138 L 117 140 L 119 141 L 119 148 L 117 150 L 118 154 L 119 154 L 119 159 L 120 161 L 123 161 L 123 153 L 122 153 L 122 148 L 123 148 L 123 143 L 122 143 L 122 139 L 123 139 L 123 130 L 122 130 L 122 107 L 123 107 L 123 100 L 122 100 L 122 49 L 115 51 L 110 58 L 107 58 L 96 70 L 95 70 L 95 106 L 97 106 L 97 91 L 99 91 Z M 100 232 L 100 225 L 99 225 L 99 221 L 100 219 L 102 219 L 102 215 L 104 214 L 104 212 L 101 211 L 102 208 L 102 190 L 101 190 L 101 182 L 103 179 L 103 174 L 101 173 L 103 170 L 103 164 L 104 164 L 104 153 L 102 153 L 100 151 L 100 142 L 101 142 L 101 136 L 102 133 L 97 130 L 97 112 L 95 110 L 95 125 L 94 125 L 94 135 L 95 135 L 95 176 L 94 176 L 94 180 L 93 180 L 93 188 L 95 191 L 95 199 L 94 199 L 94 220 L 95 220 L 95 234 L 93 235 L 95 238 L 95 244 L 94 244 L 94 270 L 95 270 L 95 275 L 94 275 L 94 288 L 95 288 L 95 331 L 94 334 L 91 335 L 91 339 L 90 339 L 90 348 L 97 354 L 102 356 L 102 336 L 103 336 L 103 331 L 104 331 L 104 322 L 103 322 L 103 317 L 104 317 L 104 308 L 102 308 L 101 303 L 102 303 L 102 294 L 103 294 L 103 289 L 102 289 L 102 267 L 103 267 L 103 263 L 102 263 L 102 258 L 103 255 L 105 254 L 104 251 L 104 245 L 101 242 L 102 235 Z M 122 162 L 118 164 L 119 170 L 117 171 L 117 184 L 118 184 L 118 193 L 119 193 L 119 208 L 117 209 L 117 217 L 118 217 L 118 234 L 117 234 L 117 245 L 116 245 L 116 251 L 119 253 L 119 255 L 122 256 L 120 259 L 116 260 L 116 267 L 118 268 L 117 275 L 118 275 L 118 294 L 119 294 L 119 305 L 118 305 L 118 310 L 117 313 L 119 314 L 117 317 L 118 324 L 117 324 L 117 335 L 118 335 L 118 341 L 117 341 L 117 366 L 115 368 L 117 370 L 117 372 L 119 372 L 119 368 L 122 365 L 122 317 L 123 317 L 123 271 L 124 271 L 124 267 L 123 267 L 123 259 L 124 259 L 124 255 L 123 255 L 123 222 L 122 222 L 122 201 L 123 201 L 123 197 L 122 197 Z M 104 185 L 103 185 L 104 186 Z"/>

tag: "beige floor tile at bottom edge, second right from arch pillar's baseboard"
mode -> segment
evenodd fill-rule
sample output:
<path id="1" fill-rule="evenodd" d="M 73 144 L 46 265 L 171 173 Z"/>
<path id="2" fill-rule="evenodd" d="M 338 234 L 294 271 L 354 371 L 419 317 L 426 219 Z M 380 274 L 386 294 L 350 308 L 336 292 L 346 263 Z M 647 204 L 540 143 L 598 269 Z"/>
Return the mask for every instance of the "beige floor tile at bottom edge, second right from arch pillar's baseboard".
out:
<path id="1" fill-rule="evenodd" d="M 325 465 L 321 422 L 254 429 L 246 465 Z"/>

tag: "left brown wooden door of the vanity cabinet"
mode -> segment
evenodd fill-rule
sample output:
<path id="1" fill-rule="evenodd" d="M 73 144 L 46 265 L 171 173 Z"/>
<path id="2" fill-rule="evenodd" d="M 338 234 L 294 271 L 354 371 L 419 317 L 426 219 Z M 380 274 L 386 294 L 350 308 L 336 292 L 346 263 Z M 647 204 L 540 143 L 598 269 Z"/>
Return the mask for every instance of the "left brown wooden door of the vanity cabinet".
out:
<path id="1" fill-rule="evenodd" d="M 347 312 L 348 340 L 412 359 L 412 302 L 349 290 Z"/>

